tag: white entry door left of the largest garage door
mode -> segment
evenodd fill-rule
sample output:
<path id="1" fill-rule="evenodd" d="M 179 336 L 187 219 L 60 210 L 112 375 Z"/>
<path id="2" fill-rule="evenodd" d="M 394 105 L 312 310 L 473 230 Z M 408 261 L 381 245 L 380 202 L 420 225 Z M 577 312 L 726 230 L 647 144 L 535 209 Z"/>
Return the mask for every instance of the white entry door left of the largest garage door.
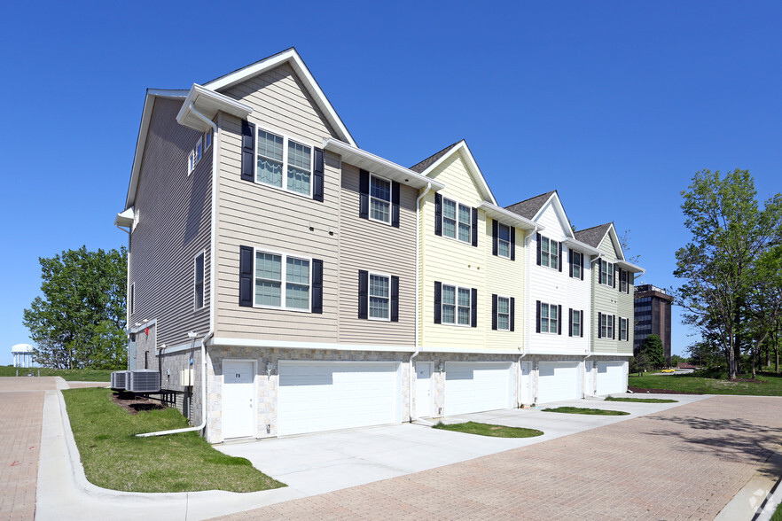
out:
<path id="1" fill-rule="evenodd" d="M 253 362 L 223 361 L 223 439 L 254 436 Z"/>

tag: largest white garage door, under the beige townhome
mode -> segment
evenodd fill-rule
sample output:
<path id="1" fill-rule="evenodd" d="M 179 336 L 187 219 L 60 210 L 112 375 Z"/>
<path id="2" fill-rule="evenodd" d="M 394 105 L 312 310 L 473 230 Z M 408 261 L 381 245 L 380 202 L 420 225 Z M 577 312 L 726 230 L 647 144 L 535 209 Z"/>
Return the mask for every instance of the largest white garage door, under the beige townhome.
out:
<path id="1" fill-rule="evenodd" d="M 279 362 L 278 434 L 401 421 L 399 362 Z"/>

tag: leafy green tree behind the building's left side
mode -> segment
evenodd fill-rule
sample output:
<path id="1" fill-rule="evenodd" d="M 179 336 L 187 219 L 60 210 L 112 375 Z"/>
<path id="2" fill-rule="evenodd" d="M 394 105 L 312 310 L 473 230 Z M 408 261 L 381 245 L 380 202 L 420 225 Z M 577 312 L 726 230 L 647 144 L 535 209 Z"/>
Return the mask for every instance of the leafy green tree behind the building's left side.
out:
<path id="1" fill-rule="evenodd" d="M 127 251 L 86 246 L 40 258 L 42 297 L 24 311 L 37 344 L 35 362 L 60 369 L 122 369 L 127 365 Z"/>

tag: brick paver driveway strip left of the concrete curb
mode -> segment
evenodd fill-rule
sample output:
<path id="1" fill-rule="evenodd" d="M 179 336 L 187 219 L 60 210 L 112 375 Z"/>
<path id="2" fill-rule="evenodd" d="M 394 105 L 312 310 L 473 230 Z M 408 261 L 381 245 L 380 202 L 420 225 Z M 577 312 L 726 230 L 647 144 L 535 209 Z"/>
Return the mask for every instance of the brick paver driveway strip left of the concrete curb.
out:
<path id="1" fill-rule="evenodd" d="M 0 519 L 33 519 L 43 396 L 53 377 L 0 378 Z"/>

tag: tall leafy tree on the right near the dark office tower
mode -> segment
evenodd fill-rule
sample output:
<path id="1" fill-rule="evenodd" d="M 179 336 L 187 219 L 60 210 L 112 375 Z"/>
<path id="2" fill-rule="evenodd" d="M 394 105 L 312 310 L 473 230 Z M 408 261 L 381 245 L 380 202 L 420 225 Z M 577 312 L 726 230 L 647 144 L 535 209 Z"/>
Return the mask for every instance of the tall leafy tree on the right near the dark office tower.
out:
<path id="1" fill-rule="evenodd" d="M 782 237 L 782 194 L 761 209 L 747 170 L 703 170 L 683 191 L 684 225 L 691 242 L 676 251 L 674 275 L 684 280 L 676 303 L 684 323 L 716 340 L 729 377 L 739 372 L 747 334 L 747 306 L 760 255 Z"/>

